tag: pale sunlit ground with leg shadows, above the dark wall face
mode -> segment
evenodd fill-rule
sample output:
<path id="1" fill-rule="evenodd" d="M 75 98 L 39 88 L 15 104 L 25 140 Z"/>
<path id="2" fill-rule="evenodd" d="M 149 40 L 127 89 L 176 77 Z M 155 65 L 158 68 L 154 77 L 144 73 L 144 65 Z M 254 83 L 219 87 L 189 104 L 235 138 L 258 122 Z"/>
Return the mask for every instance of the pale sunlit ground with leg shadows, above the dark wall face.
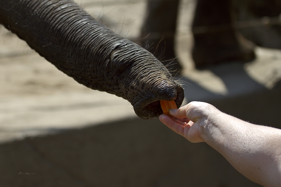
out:
<path id="1" fill-rule="evenodd" d="M 76 2 L 123 37 L 134 41 L 139 37 L 146 1 Z M 278 49 L 257 47 L 256 60 L 246 64 L 232 62 L 208 70 L 194 68 L 190 55 L 194 8 L 194 0 L 184 0 L 178 16 L 175 47 L 184 67 L 178 74 L 185 82 L 184 104 L 271 89 L 281 78 Z M 3 26 L 0 87 L 1 142 L 136 117 L 129 102 L 78 84 Z"/>

